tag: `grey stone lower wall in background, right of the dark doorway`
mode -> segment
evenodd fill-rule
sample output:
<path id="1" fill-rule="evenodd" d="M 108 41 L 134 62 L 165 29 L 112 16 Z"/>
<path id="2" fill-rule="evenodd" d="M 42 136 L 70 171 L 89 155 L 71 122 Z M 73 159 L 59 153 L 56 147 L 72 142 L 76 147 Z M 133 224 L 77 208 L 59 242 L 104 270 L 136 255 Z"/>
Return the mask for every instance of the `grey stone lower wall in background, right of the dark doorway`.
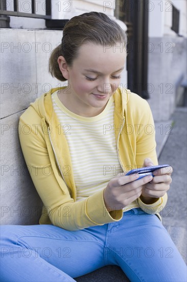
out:
<path id="1" fill-rule="evenodd" d="M 167 121 L 176 107 L 176 92 L 186 75 L 185 37 L 151 37 L 148 92 L 155 122 Z"/>

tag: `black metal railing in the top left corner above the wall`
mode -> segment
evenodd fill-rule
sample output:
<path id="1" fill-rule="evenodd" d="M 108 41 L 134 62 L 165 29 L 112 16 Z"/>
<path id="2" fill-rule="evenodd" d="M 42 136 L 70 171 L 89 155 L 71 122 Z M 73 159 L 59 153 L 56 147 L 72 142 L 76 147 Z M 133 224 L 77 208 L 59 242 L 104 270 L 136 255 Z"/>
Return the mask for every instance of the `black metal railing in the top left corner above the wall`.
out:
<path id="1" fill-rule="evenodd" d="M 12 2 L 9 2 L 9 4 Z M 36 1 L 31 0 L 31 2 L 27 2 L 27 4 L 31 5 L 29 11 L 31 12 L 20 12 L 19 7 L 23 3 L 22 0 L 14 0 L 13 1 L 13 11 L 7 10 L 7 0 L 1 0 L 1 10 L 0 15 L 7 16 L 23 16 L 23 17 L 33 17 L 33 18 L 43 18 L 43 19 L 51 19 L 51 0 L 45 0 L 45 5 L 42 6 L 42 9 L 45 10 L 45 15 L 36 14 Z M 11 10 L 12 10 L 11 9 Z"/>

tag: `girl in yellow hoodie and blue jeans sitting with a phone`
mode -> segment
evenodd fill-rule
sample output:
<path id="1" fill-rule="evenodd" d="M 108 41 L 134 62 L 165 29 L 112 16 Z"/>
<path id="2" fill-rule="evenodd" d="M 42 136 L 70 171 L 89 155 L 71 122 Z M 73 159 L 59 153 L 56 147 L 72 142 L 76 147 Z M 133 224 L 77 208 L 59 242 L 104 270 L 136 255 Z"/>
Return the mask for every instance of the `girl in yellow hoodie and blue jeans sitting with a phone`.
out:
<path id="1" fill-rule="evenodd" d="M 68 86 L 36 99 L 19 122 L 32 128 L 20 143 L 44 205 L 40 225 L 2 227 L 2 281 L 75 281 L 105 265 L 120 266 L 131 281 L 186 281 L 156 216 L 172 168 L 125 176 L 157 165 L 149 105 L 119 87 L 126 44 L 103 13 L 66 24 L 50 71 Z"/>

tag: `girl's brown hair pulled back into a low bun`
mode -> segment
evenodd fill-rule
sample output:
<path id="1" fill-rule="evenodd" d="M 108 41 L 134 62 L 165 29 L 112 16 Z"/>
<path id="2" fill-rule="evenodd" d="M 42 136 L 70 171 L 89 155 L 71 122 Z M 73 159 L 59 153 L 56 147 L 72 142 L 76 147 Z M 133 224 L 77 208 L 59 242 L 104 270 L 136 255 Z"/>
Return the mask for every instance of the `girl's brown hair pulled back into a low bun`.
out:
<path id="1" fill-rule="evenodd" d="M 104 13 L 89 12 L 74 16 L 63 29 L 62 43 L 56 47 L 49 61 L 49 71 L 58 80 L 65 81 L 57 59 L 63 56 L 68 66 L 72 66 L 74 59 L 83 43 L 91 42 L 100 45 L 113 46 L 116 43 L 127 45 L 125 31 Z"/>

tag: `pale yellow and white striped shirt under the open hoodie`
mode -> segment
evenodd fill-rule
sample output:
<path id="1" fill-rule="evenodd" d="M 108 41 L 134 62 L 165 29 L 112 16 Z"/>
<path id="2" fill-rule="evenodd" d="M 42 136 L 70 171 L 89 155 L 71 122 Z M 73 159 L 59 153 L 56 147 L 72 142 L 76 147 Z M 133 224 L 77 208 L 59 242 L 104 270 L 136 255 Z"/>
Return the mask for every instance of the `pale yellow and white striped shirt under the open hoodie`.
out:
<path id="1" fill-rule="evenodd" d="M 83 117 L 65 108 L 57 92 L 52 94 L 53 107 L 69 146 L 77 200 L 82 200 L 123 172 L 113 132 L 114 100 L 111 96 L 99 115 Z"/>

